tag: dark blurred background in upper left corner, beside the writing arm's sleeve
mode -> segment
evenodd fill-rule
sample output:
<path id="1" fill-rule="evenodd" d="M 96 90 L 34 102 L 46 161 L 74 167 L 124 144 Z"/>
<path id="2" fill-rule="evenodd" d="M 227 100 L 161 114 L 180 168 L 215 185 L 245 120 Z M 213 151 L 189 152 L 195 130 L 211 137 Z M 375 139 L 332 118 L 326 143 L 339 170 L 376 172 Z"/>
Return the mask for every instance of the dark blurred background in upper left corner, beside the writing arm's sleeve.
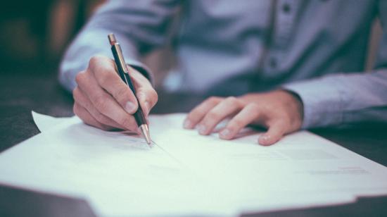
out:
<path id="1" fill-rule="evenodd" d="M 65 47 L 103 1 L 1 1 L 0 73 L 56 72 Z"/>

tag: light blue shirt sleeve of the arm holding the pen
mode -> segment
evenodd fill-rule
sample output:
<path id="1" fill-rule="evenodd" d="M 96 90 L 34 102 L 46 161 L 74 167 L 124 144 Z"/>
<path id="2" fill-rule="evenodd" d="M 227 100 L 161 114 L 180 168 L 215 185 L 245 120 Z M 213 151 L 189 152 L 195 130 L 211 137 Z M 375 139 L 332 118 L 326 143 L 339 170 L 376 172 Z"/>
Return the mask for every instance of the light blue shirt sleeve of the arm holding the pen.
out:
<path id="1" fill-rule="evenodd" d="M 125 61 L 151 80 L 151 71 L 139 61 L 141 55 L 166 44 L 178 0 L 108 1 L 92 16 L 68 47 L 59 69 L 61 85 L 72 91 L 75 76 L 87 68 L 91 56 L 113 58 L 108 34 L 114 33 Z"/>

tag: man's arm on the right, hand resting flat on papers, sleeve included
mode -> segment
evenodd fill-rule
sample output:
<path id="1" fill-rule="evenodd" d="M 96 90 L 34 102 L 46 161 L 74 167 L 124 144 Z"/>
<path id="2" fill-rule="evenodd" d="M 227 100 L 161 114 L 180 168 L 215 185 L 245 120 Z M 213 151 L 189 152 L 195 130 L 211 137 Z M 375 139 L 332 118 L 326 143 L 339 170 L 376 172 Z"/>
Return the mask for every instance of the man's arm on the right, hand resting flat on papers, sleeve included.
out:
<path id="1" fill-rule="evenodd" d="M 365 121 L 387 121 L 387 1 L 379 1 L 383 38 L 372 73 L 337 74 L 284 85 L 284 90 L 212 97 L 196 106 L 184 128 L 198 128 L 209 135 L 224 118 L 231 117 L 219 133 L 231 140 L 248 124 L 260 125 L 262 145 L 274 144 L 300 128 L 343 125 Z"/>

